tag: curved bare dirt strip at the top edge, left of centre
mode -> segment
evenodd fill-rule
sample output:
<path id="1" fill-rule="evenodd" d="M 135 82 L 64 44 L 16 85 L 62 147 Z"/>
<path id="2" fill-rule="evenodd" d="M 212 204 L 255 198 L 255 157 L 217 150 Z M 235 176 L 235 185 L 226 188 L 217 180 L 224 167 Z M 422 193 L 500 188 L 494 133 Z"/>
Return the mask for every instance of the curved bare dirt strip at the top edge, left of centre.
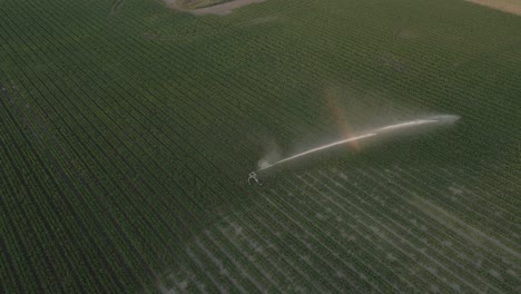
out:
<path id="1" fill-rule="evenodd" d="M 232 13 L 232 10 L 244 7 L 250 3 L 259 3 L 266 0 L 232 0 L 232 1 L 214 1 L 215 4 L 210 4 L 207 7 L 198 8 L 197 6 L 190 7 L 183 7 L 179 6 L 179 0 L 164 0 L 165 3 L 174 9 L 188 11 L 196 16 L 204 16 L 204 14 L 216 14 L 216 16 L 225 16 Z M 210 1 L 212 2 L 212 1 Z"/>

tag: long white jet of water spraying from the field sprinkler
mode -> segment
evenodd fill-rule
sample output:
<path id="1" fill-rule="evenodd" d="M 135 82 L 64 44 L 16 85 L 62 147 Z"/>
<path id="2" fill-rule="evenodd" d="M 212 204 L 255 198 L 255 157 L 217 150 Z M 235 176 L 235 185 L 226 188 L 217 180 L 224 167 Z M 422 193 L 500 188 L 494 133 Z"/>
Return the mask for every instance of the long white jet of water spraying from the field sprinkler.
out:
<path id="1" fill-rule="evenodd" d="M 296 154 L 294 156 L 284 158 L 284 159 L 278 160 L 278 161 L 276 161 L 276 160 L 275 161 L 274 160 L 265 160 L 263 158 L 263 159 L 259 160 L 257 171 L 267 169 L 267 168 L 273 167 L 275 165 L 283 164 L 283 163 L 286 163 L 286 161 L 289 161 L 289 160 L 293 160 L 293 159 L 296 159 L 296 158 L 299 158 L 299 157 L 303 157 L 303 156 L 306 156 L 306 155 L 309 155 L 309 154 L 313 154 L 313 153 L 325 150 L 325 149 L 332 148 L 334 146 L 340 146 L 340 145 L 344 145 L 344 144 L 347 144 L 347 143 L 360 141 L 360 140 L 364 140 L 364 139 L 367 139 L 367 138 L 376 138 L 376 137 L 381 137 L 381 136 L 384 136 L 384 135 L 390 135 L 390 134 L 392 134 L 394 131 L 399 131 L 399 130 L 400 131 L 401 130 L 406 130 L 406 129 L 413 130 L 413 129 L 419 128 L 420 126 L 432 126 L 432 127 L 434 127 L 434 126 L 452 125 L 459 119 L 460 119 L 460 116 L 455 116 L 455 115 L 440 115 L 440 116 L 431 116 L 431 117 L 423 118 L 423 119 L 414 119 L 414 120 L 404 121 L 404 122 L 400 122 L 400 124 L 383 126 L 383 127 L 380 127 L 380 128 L 375 128 L 375 129 L 365 131 L 365 133 L 363 133 L 361 135 L 353 136 L 353 137 L 347 138 L 347 139 L 334 141 L 334 143 L 331 143 L 331 144 L 327 144 L 327 145 L 324 145 L 324 146 L 320 146 L 320 147 L 309 149 L 307 151 Z M 277 155 L 278 155 L 278 153 L 277 153 Z"/>

